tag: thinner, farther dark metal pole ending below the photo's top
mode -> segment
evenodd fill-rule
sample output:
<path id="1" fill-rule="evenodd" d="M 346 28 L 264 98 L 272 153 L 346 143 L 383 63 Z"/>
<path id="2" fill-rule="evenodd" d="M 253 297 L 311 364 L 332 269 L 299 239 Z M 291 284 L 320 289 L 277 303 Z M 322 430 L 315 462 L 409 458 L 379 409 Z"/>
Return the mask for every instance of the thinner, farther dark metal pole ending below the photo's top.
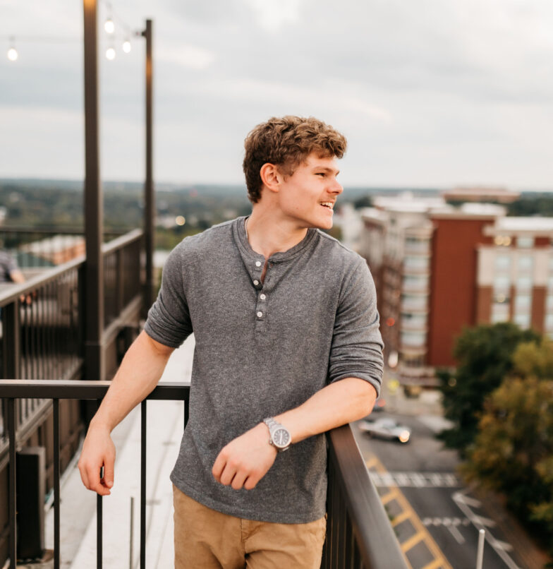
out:
<path id="1" fill-rule="evenodd" d="M 152 20 L 146 20 L 146 29 L 142 32 L 146 38 L 146 181 L 144 207 L 144 236 L 146 248 L 146 283 L 145 310 L 154 301 L 154 181 L 153 181 L 153 146 L 152 146 Z"/>

